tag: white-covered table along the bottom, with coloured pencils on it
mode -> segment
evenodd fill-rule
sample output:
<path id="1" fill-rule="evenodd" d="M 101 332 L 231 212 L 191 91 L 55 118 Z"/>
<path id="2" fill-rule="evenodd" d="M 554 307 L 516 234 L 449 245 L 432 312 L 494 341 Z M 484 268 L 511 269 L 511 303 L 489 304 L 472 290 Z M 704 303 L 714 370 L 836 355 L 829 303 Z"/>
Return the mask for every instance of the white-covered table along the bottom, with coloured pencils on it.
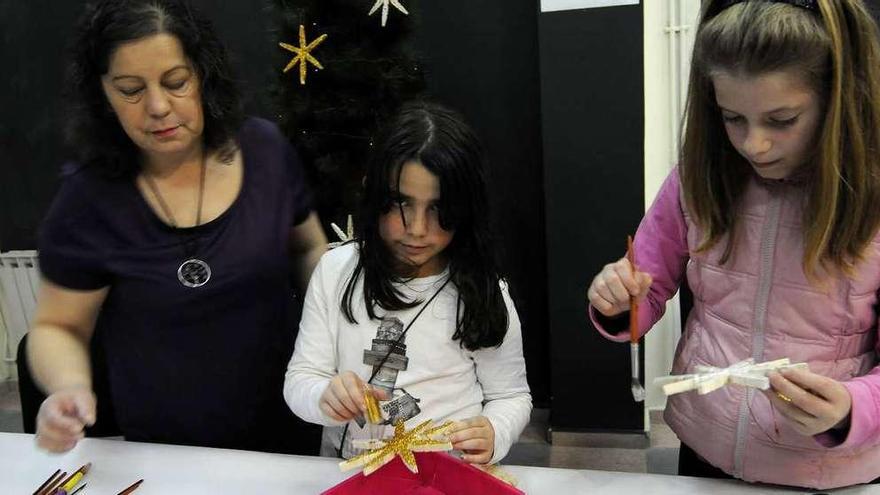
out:
<path id="1" fill-rule="evenodd" d="M 322 457 L 181 447 L 121 440 L 85 439 L 64 455 L 37 450 L 33 436 L 0 433 L 0 493 L 30 494 L 56 469 L 70 471 L 91 462 L 81 495 L 115 495 L 140 478 L 133 495 L 317 494 L 355 472 L 341 473 Z M 737 481 L 608 471 L 506 466 L 528 494 L 635 493 L 811 493 L 756 487 Z M 880 493 L 880 487 L 837 490 L 837 494 Z"/>

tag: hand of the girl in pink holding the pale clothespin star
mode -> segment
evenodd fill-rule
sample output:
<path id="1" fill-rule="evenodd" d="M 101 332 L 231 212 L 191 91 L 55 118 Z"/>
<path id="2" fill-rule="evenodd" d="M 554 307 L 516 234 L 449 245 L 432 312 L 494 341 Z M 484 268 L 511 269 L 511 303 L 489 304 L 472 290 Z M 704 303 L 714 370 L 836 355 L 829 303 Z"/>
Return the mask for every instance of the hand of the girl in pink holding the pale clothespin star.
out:
<path id="1" fill-rule="evenodd" d="M 765 394 L 801 435 L 849 426 L 852 397 L 842 383 L 807 370 L 770 373 Z"/>

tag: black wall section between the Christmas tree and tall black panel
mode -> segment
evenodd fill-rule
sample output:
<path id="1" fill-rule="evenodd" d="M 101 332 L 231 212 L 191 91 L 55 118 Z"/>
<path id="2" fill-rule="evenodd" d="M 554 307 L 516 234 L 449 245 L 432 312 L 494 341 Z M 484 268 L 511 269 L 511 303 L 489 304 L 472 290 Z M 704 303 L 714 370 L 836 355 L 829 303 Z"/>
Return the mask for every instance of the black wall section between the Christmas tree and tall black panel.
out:
<path id="1" fill-rule="evenodd" d="M 537 406 L 550 395 L 544 181 L 535 0 L 422 0 L 418 48 L 429 90 L 483 138 L 490 194 L 523 326 Z"/>

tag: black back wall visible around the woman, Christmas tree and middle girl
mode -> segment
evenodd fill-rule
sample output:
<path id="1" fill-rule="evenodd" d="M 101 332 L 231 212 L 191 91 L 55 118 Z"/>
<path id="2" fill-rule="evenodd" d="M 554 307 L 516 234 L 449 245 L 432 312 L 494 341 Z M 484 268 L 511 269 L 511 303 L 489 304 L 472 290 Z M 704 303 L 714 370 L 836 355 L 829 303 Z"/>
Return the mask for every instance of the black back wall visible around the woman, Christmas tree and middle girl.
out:
<path id="1" fill-rule="evenodd" d="M 214 21 L 249 113 L 272 118 L 283 68 L 267 1 L 193 0 Z M 365 12 L 370 5 L 365 2 Z M 404 2 L 407 5 L 410 3 Z M 495 227 L 523 322 L 529 382 L 549 402 L 537 0 L 421 0 L 415 44 L 431 92 L 465 114 L 491 160 Z M 84 0 L 0 0 L 0 249 L 33 249 L 68 158 L 61 144 L 64 49 Z M 375 16 L 374 16 L 375 17 Z M 379 22 L 376 17 L 376 22 Z M 329 42 L 329 41 L 328 41 Z M 320 59 L 320 54 L 316 53 Z M 284 58 L 284 57 L 281 57 Z"/>

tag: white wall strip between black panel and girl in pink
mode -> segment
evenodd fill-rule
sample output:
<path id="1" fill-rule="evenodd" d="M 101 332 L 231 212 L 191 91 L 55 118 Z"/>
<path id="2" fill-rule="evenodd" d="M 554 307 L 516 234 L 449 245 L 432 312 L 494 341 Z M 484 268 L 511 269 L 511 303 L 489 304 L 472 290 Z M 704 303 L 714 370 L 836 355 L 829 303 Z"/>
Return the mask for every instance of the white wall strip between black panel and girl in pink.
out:
<path id="1" fill-rule="evenodd" d="M 645 209 L 678 161 L 679 128 L 699 0 L 645 0 Z M 666 397 L 654 378 L 669 374 L 681 334 L 676 295 L 666 315 L 645 337 L 646 414 L 663 409 Z M 646 419 L 646 425 L 650 421 Z"/>

